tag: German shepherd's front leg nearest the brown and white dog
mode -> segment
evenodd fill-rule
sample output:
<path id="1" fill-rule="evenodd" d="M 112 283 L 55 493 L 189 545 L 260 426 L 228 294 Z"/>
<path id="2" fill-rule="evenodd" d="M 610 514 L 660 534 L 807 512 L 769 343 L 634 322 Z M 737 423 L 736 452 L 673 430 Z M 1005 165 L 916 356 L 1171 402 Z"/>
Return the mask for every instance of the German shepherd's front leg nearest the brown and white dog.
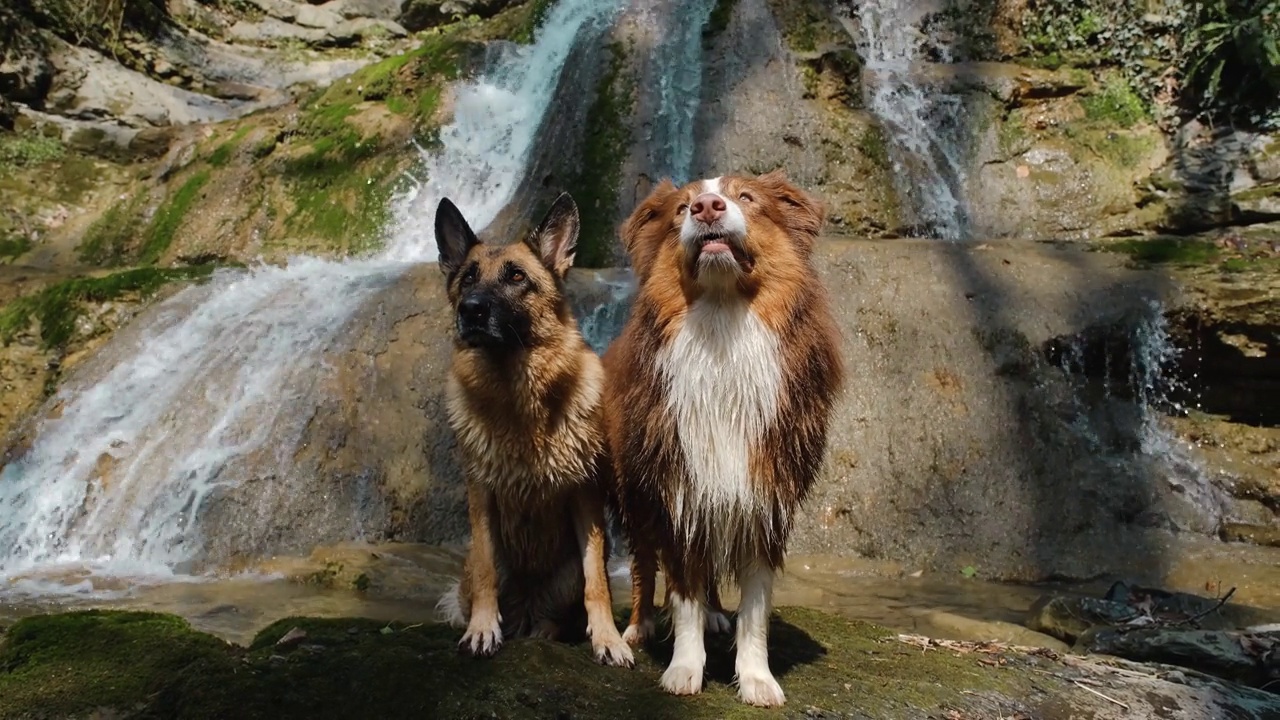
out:
<path id="1" fill-rule="evenodd" d="M 604 500 L 593 486 L 575 493 L 573 527 L 582 552 L 584 605 L 586 607 L 586 634 L 591 637 L 595 659 L 605 665 L 631 667 L 635 656 L 618 634 L 613 623 L 613 602 L 609 596 L 609 571 L 605 568 Z"/>

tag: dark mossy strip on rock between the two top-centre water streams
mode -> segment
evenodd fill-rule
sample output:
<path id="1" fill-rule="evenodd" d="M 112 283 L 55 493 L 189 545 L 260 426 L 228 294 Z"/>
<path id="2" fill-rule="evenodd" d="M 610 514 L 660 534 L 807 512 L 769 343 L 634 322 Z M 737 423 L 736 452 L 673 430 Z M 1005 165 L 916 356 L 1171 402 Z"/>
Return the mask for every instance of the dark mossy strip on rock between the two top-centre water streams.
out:
<path id="1" fill-rule="evenodd" d="M 582 218 L 576 265 L 599 268 L 613 259 L 613 233 L 622 164 L 631 147 L 635 78 L 627 72 L 627 50 L 609 44 L 609 65 L 588 110 L 582 164 L 571 192 Z"/>

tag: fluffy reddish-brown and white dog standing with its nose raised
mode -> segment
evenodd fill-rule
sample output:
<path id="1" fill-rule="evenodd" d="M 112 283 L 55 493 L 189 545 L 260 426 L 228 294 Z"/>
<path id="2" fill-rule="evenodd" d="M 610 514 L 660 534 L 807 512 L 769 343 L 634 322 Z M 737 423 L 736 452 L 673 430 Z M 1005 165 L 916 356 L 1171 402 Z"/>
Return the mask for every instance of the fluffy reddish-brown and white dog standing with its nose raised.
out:
<path id="1" fill-rule="evenodd" d="M 604 356 L 604 402 L 634 552 L 626 637 L 652 628 L 660 560 L 676 635 L 662 675 L 671 693 L 701 691 L 705 605 L 724 577 L 741 589 L 739 697 L 785 702 L 768 662 L 773 579 L 842 383 L 838 332 L 810 260 L 823 219 L 774 172 L 681 188 L 663 181 L 622 225 L 639 288 Z"/>

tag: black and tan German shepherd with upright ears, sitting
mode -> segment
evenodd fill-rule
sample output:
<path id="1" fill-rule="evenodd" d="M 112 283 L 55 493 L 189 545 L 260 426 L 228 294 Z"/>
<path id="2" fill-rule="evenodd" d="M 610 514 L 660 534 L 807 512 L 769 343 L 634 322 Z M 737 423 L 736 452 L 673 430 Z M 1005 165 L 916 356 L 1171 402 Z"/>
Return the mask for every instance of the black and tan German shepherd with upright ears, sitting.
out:
<path id="1" fill-rule="evenodd" d="M 475 656 L 503 638 L 586 633 L 596 660 L 635 659 L 613 621 L 604 370 L 564 296 L 579 213 L 562 193 L 524 242 L 483 243 L 448 199 L 435 242 L 454 315 L 449 424 L 466 475 L 471 546 L 440 610 Z M 585 618 L 584 618 L 585 615 Z"/>

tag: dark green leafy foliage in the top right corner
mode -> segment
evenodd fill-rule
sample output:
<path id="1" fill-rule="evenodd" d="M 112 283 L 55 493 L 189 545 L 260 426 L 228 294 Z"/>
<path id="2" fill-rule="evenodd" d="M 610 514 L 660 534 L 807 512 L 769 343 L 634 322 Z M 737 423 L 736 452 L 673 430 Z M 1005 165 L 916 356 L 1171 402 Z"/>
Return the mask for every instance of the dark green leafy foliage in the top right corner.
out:
<path id="1" fill-rule="evenodd" d="M 1201 106 L 1280 124 L 1280 0 L 1196 3 L 1184 83 Z"/>

